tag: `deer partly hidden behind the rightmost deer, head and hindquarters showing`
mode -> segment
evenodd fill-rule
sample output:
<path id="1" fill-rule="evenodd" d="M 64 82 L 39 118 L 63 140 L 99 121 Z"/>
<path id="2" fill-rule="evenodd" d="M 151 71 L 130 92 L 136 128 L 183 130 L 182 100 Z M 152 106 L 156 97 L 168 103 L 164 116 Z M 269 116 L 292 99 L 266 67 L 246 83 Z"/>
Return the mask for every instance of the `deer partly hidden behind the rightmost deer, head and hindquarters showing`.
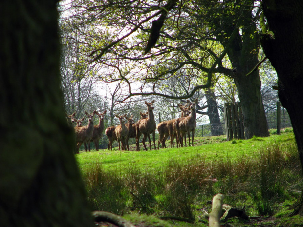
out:
<path id="1" fill-rule="evenodd" d="M 181 117 L 187 117 L 191 112 L 187 108 L 187 106 L 183 106 L 181 104 L 178 104 L 180 110 L 181 110 Z M 176 136 L 176 133 L 173 131 L 173 123 L 176 121 L 176 119 L 164 121 L 157 125 L 157 130 L 159 132 L 159 140 L 158 140 L 158 149 L 160 148 L 160 143 L 162 145 L 162 148 L 166 148 L 165 141 L 170 136 L 171 138 L 171 148 L 173 147 L 173 140 Z"/>

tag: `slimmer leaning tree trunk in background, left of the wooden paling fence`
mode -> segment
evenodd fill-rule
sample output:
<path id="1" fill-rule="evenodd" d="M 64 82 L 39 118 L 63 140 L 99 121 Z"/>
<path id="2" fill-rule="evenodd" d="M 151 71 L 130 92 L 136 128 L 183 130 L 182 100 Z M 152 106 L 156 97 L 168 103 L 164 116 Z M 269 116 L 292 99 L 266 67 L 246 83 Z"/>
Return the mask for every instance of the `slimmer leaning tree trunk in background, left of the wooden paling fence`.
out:
<path id="1" fill-rule="evenodd" d="M 216 96 L 214 90 L 205 89 L 205 96 L 207 100 L 207 116 L 211 125 L 211 132 L 213 136 L 219 136 L 223 134 L 222 124 L 220 121 L 218 104 L 216 102 Z"/>

